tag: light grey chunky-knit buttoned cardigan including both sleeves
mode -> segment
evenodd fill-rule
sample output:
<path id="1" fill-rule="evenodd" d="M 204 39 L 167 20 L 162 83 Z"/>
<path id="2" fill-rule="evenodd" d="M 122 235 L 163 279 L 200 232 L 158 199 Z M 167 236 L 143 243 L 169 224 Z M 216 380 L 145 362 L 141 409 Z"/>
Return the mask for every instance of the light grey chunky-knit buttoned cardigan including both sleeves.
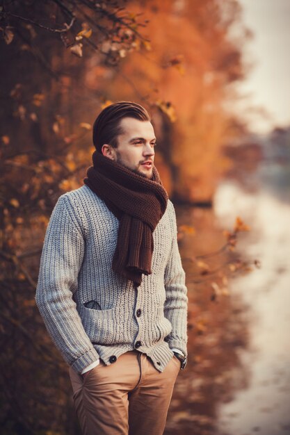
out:
<path id="1" fill-rule="evenodd" d="M 77 372 L 138 350 L 160 372 L 176 347 L 187 354 L 187 289 L 172 202 L 153 232 L 152 274 L 140 286 L 112 270 L 119 221 L 88 186 L 58 198 L 40 259 L 36 304 Z M 114 357 L 114 358 L 112 358 Z"/>

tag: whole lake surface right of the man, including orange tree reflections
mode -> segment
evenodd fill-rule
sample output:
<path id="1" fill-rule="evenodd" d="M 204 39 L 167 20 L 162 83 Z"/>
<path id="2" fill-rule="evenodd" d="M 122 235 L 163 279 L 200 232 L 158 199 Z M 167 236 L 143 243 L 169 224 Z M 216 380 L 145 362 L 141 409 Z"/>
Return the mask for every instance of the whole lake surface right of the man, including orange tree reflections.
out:
<path id="1" fill-rule="evenodd" d="M 180 240 L 190 362 L 177 378 L 166 435 L 290 434 L 290 165 L 262 162 L 251 183 L 224 180 L 211 210 L 177 209 L 179 226 L 196 230 Z M 250 226 L 237 251 L 261 268 L 229 279 L 229 294 L 212 300 L 218 278 L 201 277 L 191 257 L 223 245 L 221 231 L 237 215 Z M 228 255 L 210 258 L 211 269 Z"/>

